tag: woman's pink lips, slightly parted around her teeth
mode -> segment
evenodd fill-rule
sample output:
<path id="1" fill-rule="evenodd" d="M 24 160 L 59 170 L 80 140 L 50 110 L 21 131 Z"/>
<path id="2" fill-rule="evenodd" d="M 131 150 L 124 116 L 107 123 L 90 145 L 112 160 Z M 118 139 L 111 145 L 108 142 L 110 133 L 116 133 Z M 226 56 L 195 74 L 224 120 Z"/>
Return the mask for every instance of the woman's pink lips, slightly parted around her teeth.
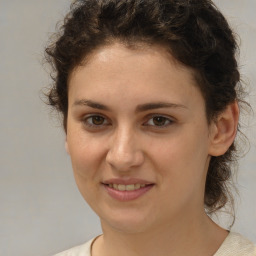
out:
<path id="1" fill-rule="evenodd" d="M 114 188 L 111 188 L 108 186 L 108 184 L 122 184 L 122 185 L 130 185 L 130 184 L 145 184 L 145 187 L 131 190 L 131 191 L 120 191 L 116 190 Z M 143 196 L 145 193 L 150 191 L 154 187 L 154 183 L 142 179 L 136 179 L 136 178 L 128 178 L 128 179 L 109 179 L 102 182 L 102 185 L 106 189 L 108 195 L 110 195 L 113 199 L 126 202 L 126 201 L 132 201 L 135 200 L 141 196 Z"/>

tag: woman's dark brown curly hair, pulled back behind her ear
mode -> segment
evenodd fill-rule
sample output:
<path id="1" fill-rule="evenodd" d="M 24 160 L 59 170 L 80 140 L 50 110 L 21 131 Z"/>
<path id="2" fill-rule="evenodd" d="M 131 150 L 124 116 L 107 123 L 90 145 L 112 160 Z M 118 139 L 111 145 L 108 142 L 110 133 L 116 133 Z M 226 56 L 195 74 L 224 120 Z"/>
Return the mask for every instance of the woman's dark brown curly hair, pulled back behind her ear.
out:
<path id="1" fill-rule="evenodd" d="M 65 131 L 70 73 L 97 48 L 114 42 L 127 47 L 161 45 L 192 68 L 208 122 L 229 104 L 243 102 L 235 35 L 212 1 L 77 0 L 45 50 L 53 68 L 48 104 L 63 115 Z M 236 160 L 236 142 L 224 155 L 211 157 L 204 195 L 208 213 L 227 202 L 233 205 L 229 183 Z"/>

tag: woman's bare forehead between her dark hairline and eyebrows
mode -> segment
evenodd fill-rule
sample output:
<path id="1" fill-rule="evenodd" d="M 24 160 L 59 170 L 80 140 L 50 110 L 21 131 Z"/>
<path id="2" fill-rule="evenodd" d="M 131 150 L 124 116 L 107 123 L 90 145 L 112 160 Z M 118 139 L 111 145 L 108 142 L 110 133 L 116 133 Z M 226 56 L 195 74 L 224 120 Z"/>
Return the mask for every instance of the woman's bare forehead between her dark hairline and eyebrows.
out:
<path id="1" fill-rule="evenodd" d="M 69 97 L 100 95 L 164 99 L 189 98 L 196 88 L 194 72 L 161 46 L 128 48 L 112 44 L 95 50 L 69 78 Z M 196 88 L 197 89 L 197 88 Z M 77 100 L 77 99 L 76 99 Z"/>

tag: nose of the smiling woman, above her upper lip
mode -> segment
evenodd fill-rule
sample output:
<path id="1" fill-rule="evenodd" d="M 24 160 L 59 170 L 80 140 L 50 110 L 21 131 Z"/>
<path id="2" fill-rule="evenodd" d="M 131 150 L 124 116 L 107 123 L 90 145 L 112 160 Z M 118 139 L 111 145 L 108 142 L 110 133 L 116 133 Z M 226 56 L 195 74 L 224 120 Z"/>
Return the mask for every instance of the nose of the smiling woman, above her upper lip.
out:
<path id="1" fill-rule="evenodd" d="M 144 154 L 134 131 L 118 129 L 110 140 L 106 161 L 117 171 L 131 171 L 144 162 Z"/>

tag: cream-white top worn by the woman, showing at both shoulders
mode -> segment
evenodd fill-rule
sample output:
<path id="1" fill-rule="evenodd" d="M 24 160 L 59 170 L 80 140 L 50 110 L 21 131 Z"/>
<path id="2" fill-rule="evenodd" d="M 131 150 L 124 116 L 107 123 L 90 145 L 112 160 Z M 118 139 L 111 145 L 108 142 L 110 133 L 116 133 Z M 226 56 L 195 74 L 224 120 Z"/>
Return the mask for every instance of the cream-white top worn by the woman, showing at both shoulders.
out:
<path id="1" fill-rule="evenodd" d="M 54 256 L 91 256 L 96 238 Z M 214 256 L 256 256 L 256 246 L 240 234 L 230 232 Z"/>

